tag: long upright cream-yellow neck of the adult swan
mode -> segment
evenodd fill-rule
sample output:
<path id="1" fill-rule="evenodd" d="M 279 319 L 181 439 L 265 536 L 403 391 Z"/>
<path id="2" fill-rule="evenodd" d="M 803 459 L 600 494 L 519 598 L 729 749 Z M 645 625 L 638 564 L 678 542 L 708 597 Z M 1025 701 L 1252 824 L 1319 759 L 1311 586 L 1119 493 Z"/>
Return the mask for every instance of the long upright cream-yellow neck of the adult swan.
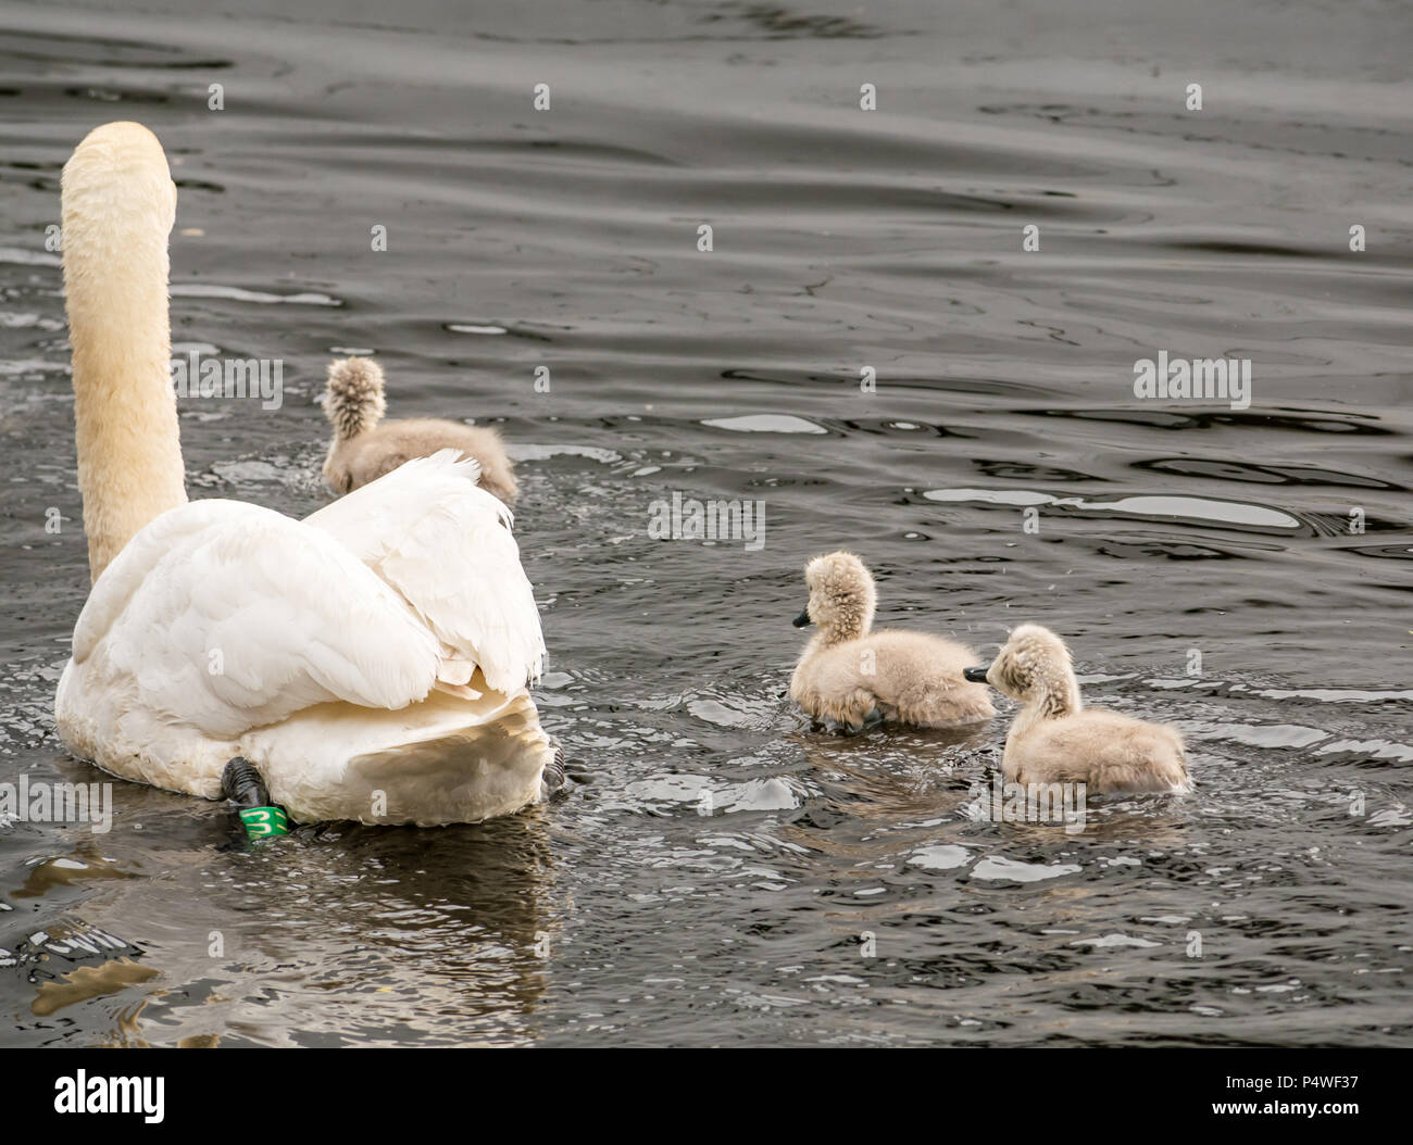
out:
<path id="1" fill-rule="evenodd" d="M 62 232 L 79 491 L 93 580 L 143 525 L 187 501 L 170 383 L 172 192 L 155 202 L 151 172 L 133 174 L 133 164 L 147 157 L 95 145 L 96 136 L 65 167 Z"/>

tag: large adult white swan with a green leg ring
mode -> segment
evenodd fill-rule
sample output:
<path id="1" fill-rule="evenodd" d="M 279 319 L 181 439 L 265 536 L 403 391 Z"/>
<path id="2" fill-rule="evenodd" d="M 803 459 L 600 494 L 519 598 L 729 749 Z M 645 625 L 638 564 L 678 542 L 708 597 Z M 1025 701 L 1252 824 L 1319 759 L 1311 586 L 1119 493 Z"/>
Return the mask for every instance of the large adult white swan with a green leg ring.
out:
<path id="1" fill-rule="evenodd" d="M 93 589 L 55 699 L 75 754 L 215 799 L 232 757 L 292 819 L 475 822 L 540 798 L 544 659 L 510 514 L 454 452 L 304 521 L 187 501 L 170 384 L 177 188 L 137 123 L 64 167 Z"/>

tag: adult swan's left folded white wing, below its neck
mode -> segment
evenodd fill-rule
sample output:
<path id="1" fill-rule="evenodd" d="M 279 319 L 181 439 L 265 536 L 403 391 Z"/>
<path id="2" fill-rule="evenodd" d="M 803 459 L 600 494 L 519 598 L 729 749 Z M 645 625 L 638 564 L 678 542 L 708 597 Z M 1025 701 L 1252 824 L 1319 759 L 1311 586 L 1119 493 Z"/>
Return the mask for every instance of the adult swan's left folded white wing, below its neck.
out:
<path id="1" fill-rule="evenodd" d="M 406 707 L 439 649 L 333 538 L 208 500 L 158 517 L 99 577 L 73 630 L 73 659 L 90 657 L 147 710 L 235 736 L 329 700 Z"/>

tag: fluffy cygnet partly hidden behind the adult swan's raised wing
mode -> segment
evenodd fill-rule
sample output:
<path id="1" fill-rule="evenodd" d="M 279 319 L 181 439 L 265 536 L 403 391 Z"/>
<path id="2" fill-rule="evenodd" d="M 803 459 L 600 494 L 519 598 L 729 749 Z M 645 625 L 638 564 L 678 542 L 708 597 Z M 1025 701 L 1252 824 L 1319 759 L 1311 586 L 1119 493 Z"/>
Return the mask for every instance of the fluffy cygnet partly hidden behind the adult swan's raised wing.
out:
<path id="1" fill-rule="evenodd" d="M 333 426 L 324 480 L 333 493 L 352 493 L 413 457 L 459 449 L 480 463 L 480 487 L 504 504 L 519 494 L 506 446 L 495 429 L 441 418 L 382 421 L 387 411 L 383 368 L 366 357 L 329 363 L 324 412 Z"/>

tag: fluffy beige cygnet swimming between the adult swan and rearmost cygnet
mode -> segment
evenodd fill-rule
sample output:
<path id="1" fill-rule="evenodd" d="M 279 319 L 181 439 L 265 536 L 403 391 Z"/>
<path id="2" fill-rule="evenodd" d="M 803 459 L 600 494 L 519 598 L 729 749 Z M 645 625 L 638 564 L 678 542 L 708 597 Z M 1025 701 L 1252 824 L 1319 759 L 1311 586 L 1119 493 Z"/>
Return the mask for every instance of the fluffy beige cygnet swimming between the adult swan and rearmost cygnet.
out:
<path id="1" fill-rule="evenodd" d="M 873 577 L 851 552 L 817 556 L 804 569 L 810 603 L 796 627 L 817 624 L 790 679 L 790 696 L 828 726 L 858 730 L 883 720 L 965 727 L 996 714 L 986 689 L 962 679 L 975 654 L 924 633 L 872 633 Z"/>

